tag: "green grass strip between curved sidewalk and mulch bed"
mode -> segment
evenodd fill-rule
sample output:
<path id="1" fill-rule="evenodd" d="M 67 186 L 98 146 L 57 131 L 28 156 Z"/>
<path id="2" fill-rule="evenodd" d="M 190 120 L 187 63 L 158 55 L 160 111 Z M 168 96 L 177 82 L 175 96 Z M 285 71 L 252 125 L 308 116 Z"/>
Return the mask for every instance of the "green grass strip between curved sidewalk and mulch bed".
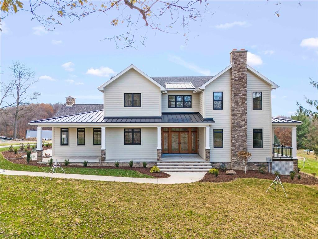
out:
<path id="1" fill-rule="evenodd" d="M 6 160 L 2 154 L 0 154 L 0 168 L 6 170 L 17 170 L 17 171 L 32 171 L 32 172 L 49 172 L 50 167 L 38 167 L 26 164 L 12 163 Z M 139 177 L 139 178 L 153 178 L 152 176 L 142 174 L 135 170 L 126 169 L 94 169 L 94 168 L 71 168 L 63 167 L 65 173 L 72 174 L 86 174 L 86 175 L 102 175 L 102 176 L 115 176 L 115 177 Z M 62 170 L 58 169 L 58 173 L 62 173 Z"/>

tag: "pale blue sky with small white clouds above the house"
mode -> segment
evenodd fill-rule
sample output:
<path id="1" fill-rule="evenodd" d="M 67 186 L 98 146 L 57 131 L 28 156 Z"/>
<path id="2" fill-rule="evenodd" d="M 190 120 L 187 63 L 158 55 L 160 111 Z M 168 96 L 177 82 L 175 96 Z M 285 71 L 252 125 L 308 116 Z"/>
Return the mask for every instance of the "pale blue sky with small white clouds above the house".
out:
<path id="1" fill-rule="evenodd" d="M 2 22 L 1 80 L 10 79 L 8 67 L 18 60 L 39 77 L 32 89 L 42 93 L 36 102 L 64 103 L 70 95 L 76 103 L 102 103 L 97 87 L 130 64 L 149 76 L 213 76 L 228 66 L 232 48 L 245 48 L 249 64 L 280 86 L 272 92 L 272 115 L 290 115 L 304 95 L 318 97 L 309 85 L 309 77 L 318 80 L 318 4 L 283 1 L 279 18 L 275 4 L 212 1 L 214 14 L 191 23 L 188 41 L 178 26 L 173 31 L 180 34 L 144 27 L 140 32 L 148 30 L 147 40 L 137 50 L 118 50 L 114 42 L 102 40 L 126 30 L 111 26 L 111 15 L 65 19 L 48 32 L 28 13 L 18 12 Z"/>

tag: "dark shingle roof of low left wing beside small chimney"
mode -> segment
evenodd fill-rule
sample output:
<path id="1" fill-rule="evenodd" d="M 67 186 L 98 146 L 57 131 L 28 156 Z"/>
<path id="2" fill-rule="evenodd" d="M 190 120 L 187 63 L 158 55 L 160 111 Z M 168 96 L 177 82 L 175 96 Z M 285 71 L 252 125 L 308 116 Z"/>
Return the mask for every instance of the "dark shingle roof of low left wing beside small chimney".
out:
<path id="1" fill-rule="evenodd" d="M 74 104 L 72 106 L 66 106 L 64 104 L 53 117 L 59 117 L 64 115 L 79 114 L 84 112 L 91 112 L 96 110 L 103 110 L 103 104 Z"/>

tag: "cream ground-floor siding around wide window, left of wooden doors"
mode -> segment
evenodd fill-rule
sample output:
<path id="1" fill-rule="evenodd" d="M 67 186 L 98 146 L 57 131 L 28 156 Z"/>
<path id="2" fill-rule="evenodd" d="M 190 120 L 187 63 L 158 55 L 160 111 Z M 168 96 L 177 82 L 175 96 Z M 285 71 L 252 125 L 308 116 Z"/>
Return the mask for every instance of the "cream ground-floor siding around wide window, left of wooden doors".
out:
<path id="1" fill-rule="evenodd" d="M 141 145 L 124 145 L 124 128 L 106 128 L 106 159 L 156 159 L 157 127 L 141 128 Z"/>

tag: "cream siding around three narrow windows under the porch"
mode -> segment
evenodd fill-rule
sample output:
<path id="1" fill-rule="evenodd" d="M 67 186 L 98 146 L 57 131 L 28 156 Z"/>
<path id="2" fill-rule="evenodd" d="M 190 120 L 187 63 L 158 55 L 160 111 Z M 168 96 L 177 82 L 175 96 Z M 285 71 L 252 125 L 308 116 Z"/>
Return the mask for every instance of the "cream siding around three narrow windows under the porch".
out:
<path id="1" fill-rule="evenodd" d="M 85 128 L 85 145 L 77 145 L 77 128 L 68 128 L 68 145 L 61 146 L 61 129 L 53 130 L 53 156 L 98 156 L 100 145 L 93 145 L 93 128 Z M 97 158 L 96 158 L 97 159 Z"/>

